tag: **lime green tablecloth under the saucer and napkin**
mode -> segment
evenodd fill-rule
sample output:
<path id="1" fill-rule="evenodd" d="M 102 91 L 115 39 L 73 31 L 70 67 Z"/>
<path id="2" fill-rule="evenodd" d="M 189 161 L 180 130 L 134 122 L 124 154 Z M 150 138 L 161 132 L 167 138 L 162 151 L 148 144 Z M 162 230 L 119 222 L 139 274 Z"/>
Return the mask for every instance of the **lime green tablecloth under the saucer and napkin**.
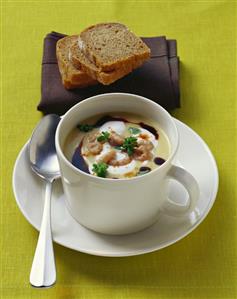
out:
<path id="1" fill-rule="evenodd" d="M 1 298 L 237 298 L 236 296 L 236 2 L 1 2 Z M 178 40 L 182 108 L 216 157 L 220 186 L 206 220 L 166 249 L 128 258 L 82 254 L 55 244 L 57 284 L 32 289 L 38 233 L 14 200 L 15 159 L 41 117 L 43 38 L 54 30 L 120 21 L 140 36 Z M 199 159 L 199 157 L 193 157 Z"/>

